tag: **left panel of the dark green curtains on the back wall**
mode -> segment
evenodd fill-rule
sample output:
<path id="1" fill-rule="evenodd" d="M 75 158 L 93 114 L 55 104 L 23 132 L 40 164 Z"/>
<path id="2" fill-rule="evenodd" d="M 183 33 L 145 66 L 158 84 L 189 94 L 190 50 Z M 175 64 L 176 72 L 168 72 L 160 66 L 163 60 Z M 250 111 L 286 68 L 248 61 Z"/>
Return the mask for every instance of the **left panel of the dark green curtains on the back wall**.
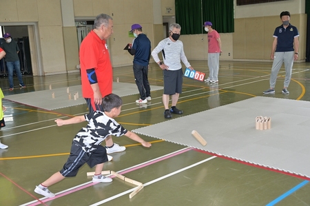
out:
<path id="1" fill-rule="evenodd" d="M 181 34 L 201 34 L 201 0 L 175 0 L 176 23 L 180 24 Z"/>

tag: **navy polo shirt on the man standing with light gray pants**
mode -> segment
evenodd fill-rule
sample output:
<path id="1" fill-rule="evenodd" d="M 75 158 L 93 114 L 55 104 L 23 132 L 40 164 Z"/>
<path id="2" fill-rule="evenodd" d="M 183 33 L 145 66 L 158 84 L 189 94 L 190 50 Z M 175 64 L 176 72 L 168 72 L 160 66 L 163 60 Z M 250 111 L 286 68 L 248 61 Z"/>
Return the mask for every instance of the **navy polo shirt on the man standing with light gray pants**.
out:
<path id="1" fill-rule="evenodd" d="M 284 28 L 280 25 L 274 30 L 273 37 L 278 38 L 276 52 L 291 52 L 294 50 L 293 42 L 295 37 L 299 37 L 298 30 L 291 23 Z"/>

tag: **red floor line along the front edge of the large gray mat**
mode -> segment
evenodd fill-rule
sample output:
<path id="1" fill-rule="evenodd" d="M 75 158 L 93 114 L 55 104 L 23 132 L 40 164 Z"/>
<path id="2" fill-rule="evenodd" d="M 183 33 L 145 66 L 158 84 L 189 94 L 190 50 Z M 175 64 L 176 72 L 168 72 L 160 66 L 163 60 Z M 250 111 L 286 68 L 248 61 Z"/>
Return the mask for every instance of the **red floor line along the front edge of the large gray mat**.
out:
<path id="1" fill-rule="evenodd" d="M 198 150 L 198 149 L 194 149 L 194 150 L 197 151 L 197 152 L 202 152 L 202 153 L 209 154 L 209 155 L 212 155 L 212 156 L 217 156 L 219 158 L 224 158 L 224 159 L 227 159 L 229 161 L 234 161 L 234 162 L 237 162 L 237 163 L 242 163 L 244 165 L 249 165 L 249 166 L 252 166 L 252 167 L 258 167 L 260 169 L 267 169 L 267 170 L 272 171 L 272 172 L 278 172 L 278 173 L 281 173 L 281 174 L 286 174 L 286 175 L 289 175 L 289 176 L 293 176 L 293 177 L 296 177 L 296 178 L 302 178 L 304 180 L 310 181 L 310 178 L 308 178 L 306 176 L 300 176 L 298 174 L 292 174 L 290 172 L 284 172 L 284 171 L 281 171 L 279 169 L 272 169 L 272 168 L 265 167 L 265 166 L 255 165 L 253 163 L 247 163 L 247 162 L 244 162 L 244 161 L 239 161 L 239 160 L 236 160 L 234 158 L 229 158 L 227 156 L 220 156 L 220 155 L 214 154 L 212 152 L 207 152 L 207 151 Z"/>

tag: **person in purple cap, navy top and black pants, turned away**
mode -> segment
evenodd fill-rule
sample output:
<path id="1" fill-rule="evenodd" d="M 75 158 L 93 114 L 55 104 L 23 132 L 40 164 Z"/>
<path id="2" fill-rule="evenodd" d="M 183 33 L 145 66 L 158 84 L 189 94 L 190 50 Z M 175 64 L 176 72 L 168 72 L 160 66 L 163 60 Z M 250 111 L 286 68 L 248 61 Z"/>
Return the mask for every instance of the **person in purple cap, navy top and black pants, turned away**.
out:
<path id="1" fill-rule="evenodd" d="M 151 101 L 151 87 L 147 79 L 151 41 L 142 33 L 142 26 L 138 23 L 132 25 L 130 32 L 136 37 L 131 48 L 128 48 L 128 52 L 134 55 L 134 79 L 140 93 L 140 99 L 136 100 L 136 103 L 147 103 Z"/>

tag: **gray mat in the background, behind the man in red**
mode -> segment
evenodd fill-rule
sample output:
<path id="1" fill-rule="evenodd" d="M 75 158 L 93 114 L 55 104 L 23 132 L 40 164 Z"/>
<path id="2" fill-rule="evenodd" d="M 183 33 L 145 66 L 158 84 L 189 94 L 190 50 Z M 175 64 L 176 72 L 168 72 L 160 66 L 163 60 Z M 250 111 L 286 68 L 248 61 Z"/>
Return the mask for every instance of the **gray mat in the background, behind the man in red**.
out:
<path id="1" fill-rule="evenodd" d="M 83 99 L 81 92 L 81 85 L 69 87 L 71 99 L 69 99 L 67 94 L 67 88 L 68 87 L 61 87 L 52 90 L 13 94 L 6 96 L 5 99 L 23 103 L 25 105 L 43 108 L 45 110 L 56 110 L 62 107 L 85 104 L 85 99 Z M 151 85 L 151 90 L 163 90 L 163 87 Z M 53 92 L 55 97 L 54 99 L 52 98 Z M 76 92 L 78 92 L 79 98 L 74 100 L 74 94 L 76 94 Z M 128 96 L 131 94 L 138 94 L 138 88 L 134 83 L 114 82 L 113 93 L 118 94 L 118 96 Z"/>

